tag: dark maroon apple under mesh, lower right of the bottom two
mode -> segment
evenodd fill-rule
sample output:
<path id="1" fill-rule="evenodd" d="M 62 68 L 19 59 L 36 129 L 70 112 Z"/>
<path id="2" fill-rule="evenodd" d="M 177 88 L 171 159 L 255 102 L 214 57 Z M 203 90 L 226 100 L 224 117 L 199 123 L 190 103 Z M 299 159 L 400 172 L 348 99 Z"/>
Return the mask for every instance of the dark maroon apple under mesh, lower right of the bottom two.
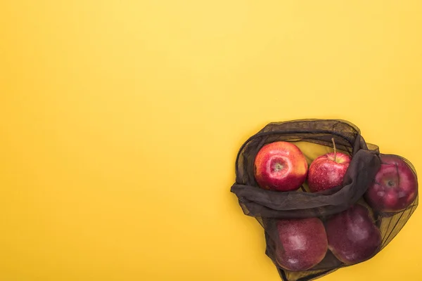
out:
<path id="1" fill-rule="evenodd" d="M 360 204 L 328 218 L 326 233 L 328 249 L 345 264 L 365 261 L 381 246 L 381 232 Z"/>

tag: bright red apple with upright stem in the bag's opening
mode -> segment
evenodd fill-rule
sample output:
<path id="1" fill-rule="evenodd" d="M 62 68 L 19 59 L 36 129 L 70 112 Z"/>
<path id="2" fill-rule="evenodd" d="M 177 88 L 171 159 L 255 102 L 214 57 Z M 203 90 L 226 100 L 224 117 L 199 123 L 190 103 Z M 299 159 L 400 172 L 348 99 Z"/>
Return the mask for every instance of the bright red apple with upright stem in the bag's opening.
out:
<path id="1" fill-rule="evenodd" d="M 334 139 L 332 141 L 334 152 L 317 157 L 309 166 L 307 183 L 311 192 L 328 190 L 343 183 L 352 157 L 337 152 Z"/>

